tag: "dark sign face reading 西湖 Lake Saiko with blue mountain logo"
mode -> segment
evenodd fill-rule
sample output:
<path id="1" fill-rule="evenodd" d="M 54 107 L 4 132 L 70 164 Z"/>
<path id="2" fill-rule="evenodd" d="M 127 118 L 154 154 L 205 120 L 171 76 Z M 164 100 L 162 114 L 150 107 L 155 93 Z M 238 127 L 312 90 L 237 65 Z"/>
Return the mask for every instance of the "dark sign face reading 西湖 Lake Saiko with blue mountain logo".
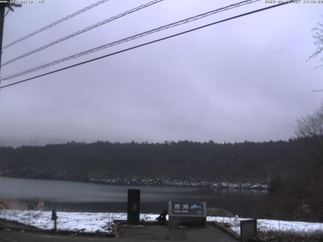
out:
<path id="1" fill-rule="evenodd" d="M 173 215 L 200 215 L 203 216 L 203 203 L 173 202 Z"/>

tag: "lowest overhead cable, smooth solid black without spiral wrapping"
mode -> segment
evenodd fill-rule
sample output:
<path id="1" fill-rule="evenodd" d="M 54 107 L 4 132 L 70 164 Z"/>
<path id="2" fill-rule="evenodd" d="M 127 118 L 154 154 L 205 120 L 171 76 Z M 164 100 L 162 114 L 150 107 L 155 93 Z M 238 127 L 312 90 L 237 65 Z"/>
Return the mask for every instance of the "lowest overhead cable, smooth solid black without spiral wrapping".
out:
<path id="1" fill-rule="evenodd" d="M 16 85 L 16 84 L 19 84 L 19 83 L 22 83 L 22 82 L 26 82 L 26 81 L 29 81 L 29 80 L 32 80 L 32 79 L 35 79 L 35 78 L 38 78 L 38 77 L 43 77 L 43 76 L 46 76 L 46 75 L 49 75 L 49 74 L 52 74 L 52 73 L 56 73 L 56 72 L 60 72 L 60 71 L 63 71 L 63 70 L 67 70 L 67 69 L 70 69 L 72 67 L 77 67 L 77 66 L 80 66 L 80 65 L 89 63 L 89 62 L 96 61 L 97 59 L 101 59 L 101 58 L 105 58 L 105 57 L 112 56 L 112 55 L 115 55 L 115 54 L 119 54 L 119 53 L 122 53 L 122 52 L 125 52 L 125 51 L 128 51 L 128 50 L 131 50 L 131 49 L 135 49 L 135 48 L 139 48 L 139 47 L 142 47 L 142 46 L 145 46 L 145 45 L 148 45 L 148 44 L 152 44 L 152 43 L 155 43 L 155 42 L 159 42 L 161 40 L 166 40 L 166 39 L 169 39 L 169 38 L 173 38 L 175 36 L 182 35 L 182 34 L 186 34 L 186 33 L 189 33 L 189 32 L 195 31 L 195 30 L 198 30 L 198 29 L 202 29 L 202 28 L 205 28 L 205 27 L 214 25 L 214 24 L 219 24 L 219 23 L 222 23 L 222 22 L 225 22 L 225 21 L 229 21 L 229 20 L 232 20 L 232 19 L 240 18 L 240 17 L 246 16 L 246 15 L 254 14 L 254 13 L 261 12 L 261 11 L 264 11 L 264 10 L 267 10 L 267 9 L 272 9 L 272 8 L 279 7 L 279 6 L 282 6 L 282 5 L 285 5 L 285 4 L 289 4 L 289 3 L 292 3 L 292 2 L 291 1 L 290 2 L 285 2 L 285 3 L 281 3 L 281 4 L 269 6 L 269 7 L 266 7 L 266 8 L 254 10 L 254 11 L 251 11 L 251 12 L 248 12 L 248 13 L 236 15 L 236 16 L 231 17 L 231 18 L 227 18 L 227 19 L 224 19 L 224 20 L 220 20 L 220 21 L 217 21 L 217 22 L 213 22 L 213 23 L 210 23 L 210 24 L 206 24 L 206 25 L 203 25 L 203 26 L 200 26 L 200 27 L 197 27 L 197 28 L 193 28 L 193 29 L 190 29 L 190 30 L 181 32 L 181 33 L 169 35 L 169 36 L 164 37 L 164 38 L 156 39 L 156 40 L 153 40 L 153 41 L 150 41 L 150 42 L 146 42 L 146 43 L 143 43 L 143 44 L 139 44 L 139 45 L 136 45 L 136 46 L 133 46 L 133 47 L 130 47 L 130 48 L 126 48 L 126 49 L 123 49 L 123 50 L 119 50 L 119 51 L 116 51 L 116 52 L 113 52 L 113 53 L 110 53 L 110 54 L 102 55 L 100 57 L 96 57 L 96 58 L 93 58 L 93 59 L 89 59 L 88 61 L 85 61 L 85 62 L 81 62 L 81 63 L 75 64 L 75 65 L 71 65 L 71 66 L 68 66 L 68 67 L 64 67 L 64 68 L 61 68 L 61 69 L 58 69 L 58 70 L 55 70 L 55 71 L 51 71 L 51 72 L 47 72 L 47 73 L 44 73 L 44 74 L 41 74 L 41 75 L 38 75 L 38 76 L 34 76 L 34 77 L 31 77 L 31 78 L 27 78 L 27 79 L 24 79 L 24 80 L 19 81 L 19 82 L 14 82 L 14 83 L 11 83 L 11 84 L 8 84 L 8 85 L 5 85 L 5 86 L 0 87 L 0 89 L 1 88 L 5 88 L 5 87 L 9 87 L 9 86 L 13 86 L 13 85 Z"/>

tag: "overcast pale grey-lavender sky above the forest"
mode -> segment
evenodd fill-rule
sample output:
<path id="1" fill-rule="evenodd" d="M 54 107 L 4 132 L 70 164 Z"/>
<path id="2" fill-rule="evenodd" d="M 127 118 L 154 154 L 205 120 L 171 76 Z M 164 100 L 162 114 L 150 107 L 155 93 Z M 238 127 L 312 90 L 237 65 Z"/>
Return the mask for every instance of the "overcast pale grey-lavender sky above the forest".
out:
<path id="1" fill-rule="evenodd" d="M 96 0 L 23 4 L 5 18 L 3 45 Z M 2 63 L 148 0 L 110 0 L 3 50 Z M 239 1 L 165 0 L 2 67 L 9 75 Z M 270 6 L 264 1 L 154 33 L 1 85 Z M 123 52 L 0 91 L 0 142 L 287 140 L 317 108 L 323 71 L 311 29 L 322 4 L 288 4 Z"/>

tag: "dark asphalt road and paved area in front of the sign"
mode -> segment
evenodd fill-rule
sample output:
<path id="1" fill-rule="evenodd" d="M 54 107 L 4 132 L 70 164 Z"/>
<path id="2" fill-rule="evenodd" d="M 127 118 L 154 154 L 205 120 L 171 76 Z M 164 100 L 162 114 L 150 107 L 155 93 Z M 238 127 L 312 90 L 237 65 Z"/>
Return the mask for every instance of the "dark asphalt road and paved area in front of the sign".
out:
<path id="1" fill-rule="evenodd" d="M 213 225 L 205 228 L 170 228 L 167 225 L 144 225 L 142 227 L 130 227 L 119 225 L 116 237 L 104 237 L 96 235 L 73 235 L 44 231 L 27 231 L 30 226 L 15 222 L 0 220 L 0 225 L 15 229 L 0 229 L 0 242 L 63 242 L 63 241 L 119 241 L 119 242 L 236 242 L 234 238 Z M 10 225 L 10 226 L 9 226 Z M 1 226 L 0 226 L 1 227 Z M 26 230 L 25 230 L 26 229 Z"/>

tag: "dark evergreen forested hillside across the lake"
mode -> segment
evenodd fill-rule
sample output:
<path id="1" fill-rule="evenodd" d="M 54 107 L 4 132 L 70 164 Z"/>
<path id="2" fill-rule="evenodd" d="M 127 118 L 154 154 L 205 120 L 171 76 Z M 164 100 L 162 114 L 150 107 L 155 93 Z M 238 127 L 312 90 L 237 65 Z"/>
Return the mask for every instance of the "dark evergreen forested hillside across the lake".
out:
<path id="1" fill-rule="evenodd" d="M 166 176 L 205 180 L 266 179 L 302 169 L 300 139 L 217 144 L 209 142 L 95 143 L 0 147 L 0 169 L 56 167 L 67 173 L 110 177 Z"/>

